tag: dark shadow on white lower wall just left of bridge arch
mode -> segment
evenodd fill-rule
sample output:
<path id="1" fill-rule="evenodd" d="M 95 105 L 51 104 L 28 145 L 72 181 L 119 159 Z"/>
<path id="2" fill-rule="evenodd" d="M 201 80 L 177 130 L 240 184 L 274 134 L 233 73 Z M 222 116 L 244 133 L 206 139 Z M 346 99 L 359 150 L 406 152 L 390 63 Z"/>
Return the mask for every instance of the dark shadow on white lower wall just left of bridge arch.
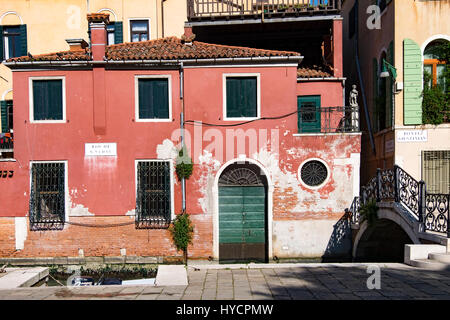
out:
<path id="1" fill-rule="evenodd" d="M 333 226 L 333 233 L 322 256 L 322 261 L 352 261 L 352 228 L 347 214 L 344 214 Z"/>

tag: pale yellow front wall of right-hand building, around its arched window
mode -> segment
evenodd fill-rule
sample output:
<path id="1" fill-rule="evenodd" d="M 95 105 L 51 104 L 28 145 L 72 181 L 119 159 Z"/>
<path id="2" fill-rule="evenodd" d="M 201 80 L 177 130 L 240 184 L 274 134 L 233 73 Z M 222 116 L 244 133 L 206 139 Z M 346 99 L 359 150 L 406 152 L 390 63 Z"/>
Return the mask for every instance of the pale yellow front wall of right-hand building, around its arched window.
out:
<path id="1" fill-rule="evenodd" d="M 450 40 L 450 0 L 395 1 L 395 67 L 397 81 L 403 82 L 403 40 L 414 40 L 423 50 L 434 38 Z M 450 124 L 439 126 L 403 124 L 403 91 L 395 98 L 396 135 L 399 131 L 422 129 L 427 131 L 427 142 L 399 143 L 395 139 L 395 163 L 415 179 L 422 178 L 421 154 L 424 150 L 450 150 Z"/>

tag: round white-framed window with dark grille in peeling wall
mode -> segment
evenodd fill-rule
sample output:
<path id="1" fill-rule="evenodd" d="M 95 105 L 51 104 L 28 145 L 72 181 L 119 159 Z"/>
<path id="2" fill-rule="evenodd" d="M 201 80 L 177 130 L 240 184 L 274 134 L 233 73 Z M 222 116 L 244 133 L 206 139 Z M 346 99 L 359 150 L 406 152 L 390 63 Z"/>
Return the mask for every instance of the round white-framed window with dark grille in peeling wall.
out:
<path id="1" fill-rule="evenodd" d="M 309 158 L 298 167 L 298 179 L 308 189 L 320 189 L 330 179 L 330 168 L 322 159 Z"/>

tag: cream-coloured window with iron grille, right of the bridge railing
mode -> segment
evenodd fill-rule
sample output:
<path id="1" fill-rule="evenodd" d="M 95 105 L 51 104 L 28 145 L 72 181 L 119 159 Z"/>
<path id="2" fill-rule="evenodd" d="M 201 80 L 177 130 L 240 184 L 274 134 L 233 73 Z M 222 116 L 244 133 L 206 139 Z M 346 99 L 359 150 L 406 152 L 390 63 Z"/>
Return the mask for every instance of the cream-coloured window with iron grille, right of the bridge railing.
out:
<path id="1" fill-rule="evenodd" d="M 450 150 L 422 151 L 422 180 L 428 193 L 450 193 Z"/>

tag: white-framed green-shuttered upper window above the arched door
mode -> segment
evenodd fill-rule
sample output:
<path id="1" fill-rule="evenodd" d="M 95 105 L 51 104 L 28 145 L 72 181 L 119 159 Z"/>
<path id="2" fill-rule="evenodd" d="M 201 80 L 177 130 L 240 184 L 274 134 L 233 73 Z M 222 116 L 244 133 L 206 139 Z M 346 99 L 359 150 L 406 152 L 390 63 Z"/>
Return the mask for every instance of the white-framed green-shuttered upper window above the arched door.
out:
<path id="1" fill-rule="evenodd" d="M 245 121 L 260 117 L 260 74 L 223 74 L 223 119 L 225 121 Z"/>

